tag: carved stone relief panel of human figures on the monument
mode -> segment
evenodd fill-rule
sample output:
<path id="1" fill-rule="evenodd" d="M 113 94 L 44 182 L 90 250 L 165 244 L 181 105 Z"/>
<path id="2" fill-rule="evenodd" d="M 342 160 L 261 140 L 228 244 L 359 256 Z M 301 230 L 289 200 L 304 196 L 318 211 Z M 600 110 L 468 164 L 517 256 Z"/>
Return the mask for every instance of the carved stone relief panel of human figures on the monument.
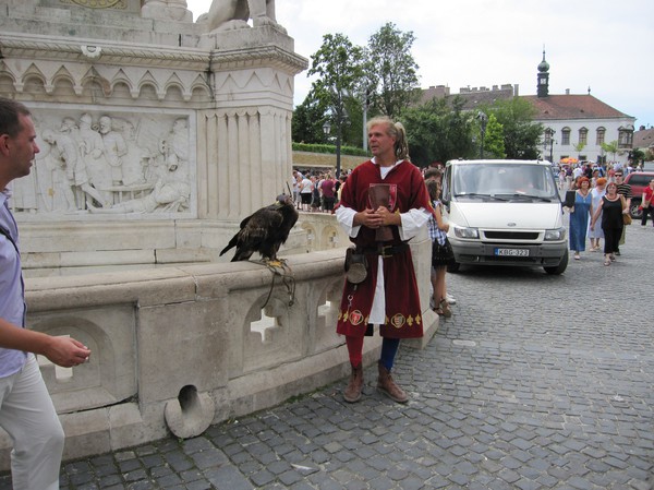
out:
<path id="1" fill-rule="evenodd" d="M 189 115 L 33 109 L 40 152 L 13 188 L 16 213 L 189 214 Z M 194 128 L 193 128 L 194 131 Z"/>

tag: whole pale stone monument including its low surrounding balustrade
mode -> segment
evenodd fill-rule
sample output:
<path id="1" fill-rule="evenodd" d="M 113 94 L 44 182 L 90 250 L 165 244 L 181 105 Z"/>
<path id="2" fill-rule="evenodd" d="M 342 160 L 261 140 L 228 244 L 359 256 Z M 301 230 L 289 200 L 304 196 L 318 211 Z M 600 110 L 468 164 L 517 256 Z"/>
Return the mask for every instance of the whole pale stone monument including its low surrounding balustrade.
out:
<path id="1" fill-rule="evenodd" d="M 334 327 L 348 239 L 334 216 L 295 226 L 292 278 L 184 263 L 217 259 L 291 177 L 293 76 L 307 61 L 274 12 L 215 0 L 193 23 L 184 0 L 0 4 L 0 96 L 32 109 L 41 150 L 11 200 L 27 324 L 93 351 L 72 369 L 39 359 L 64 459 L 195 437 L 350 371 Z M 426 232 L 412 249 L 428 304 Z M 438 316 L 422 316 L 433 335 Z M 1 469 L 11 446 L 0 430 Z"/>

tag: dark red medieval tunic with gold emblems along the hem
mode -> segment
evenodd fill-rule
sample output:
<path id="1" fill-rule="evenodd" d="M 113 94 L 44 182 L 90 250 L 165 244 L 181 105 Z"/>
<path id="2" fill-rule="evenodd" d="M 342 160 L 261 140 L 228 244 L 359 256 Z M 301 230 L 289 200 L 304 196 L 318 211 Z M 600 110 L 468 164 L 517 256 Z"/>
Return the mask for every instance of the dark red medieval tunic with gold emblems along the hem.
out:
<path id="1" fill-rule="evenodd" d="M 372 207 L 368 201 L 371 184 L 389 184 L 391 190 L 390 211 L 408 213 L 411 210 L 431 211 L 429 195 L 424 178 L 417 167 L 404 160 L 382 178 L 379 166 L 368 160 L 358 166 L 346 181 L 339 206 L 355 212 Z M 425 218 L 426 223 L 426 218 Z M 348 336 L 366 334 L 375 299 L 379 246 L 391 246 L 397 252 L 383 254 L 384 297 L 386 315 L 379 324 L 379 333 L 389 338 L 415 338 L 423 336 L 423 320 L 417 284 L 408 240 L 402 241 L 397 226 L 390 226 L 392 239 L 376 241 L 376 230 L 361 226 L 355 237 L 350 237 L 358 250 L 365 253 L 368 274 L 365 280 L 354 285 L 346 280 L 337 333 Z M 398 247 L 399 246 L 399 247 Z"/>

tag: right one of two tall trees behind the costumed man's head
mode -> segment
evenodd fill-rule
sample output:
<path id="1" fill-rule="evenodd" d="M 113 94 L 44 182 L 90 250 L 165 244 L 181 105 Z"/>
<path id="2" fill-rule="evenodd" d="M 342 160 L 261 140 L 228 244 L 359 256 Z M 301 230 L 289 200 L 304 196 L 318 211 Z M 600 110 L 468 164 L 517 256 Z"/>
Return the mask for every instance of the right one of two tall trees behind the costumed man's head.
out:
<path id="1" fill-rule="evenodd" d="M 402 33 L 389 22 L 371 36 L 365 51 L 367 87 L 364 88 L 374 88 L 373 109 L 392 119 L 420 96 L 419 65 L 411 55 L 414 40 L 412 32 Z"/>

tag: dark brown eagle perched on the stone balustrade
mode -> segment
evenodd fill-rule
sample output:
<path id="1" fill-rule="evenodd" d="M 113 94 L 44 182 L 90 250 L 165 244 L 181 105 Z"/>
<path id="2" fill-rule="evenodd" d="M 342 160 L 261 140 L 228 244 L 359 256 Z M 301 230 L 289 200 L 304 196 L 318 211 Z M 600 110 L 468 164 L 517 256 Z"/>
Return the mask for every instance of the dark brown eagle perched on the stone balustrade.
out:
<path id="1" fill-rule="evenodd" d="M 275 204 L 255 211 L 241 222 L 241 229 L 222 249 L 220 255 L 237 248 L 232 262 L 246 261 L 258 252 L 266 262 L 278 262 L 277 251 L 298 220 L 291 198 L 279 194 Z"/>

